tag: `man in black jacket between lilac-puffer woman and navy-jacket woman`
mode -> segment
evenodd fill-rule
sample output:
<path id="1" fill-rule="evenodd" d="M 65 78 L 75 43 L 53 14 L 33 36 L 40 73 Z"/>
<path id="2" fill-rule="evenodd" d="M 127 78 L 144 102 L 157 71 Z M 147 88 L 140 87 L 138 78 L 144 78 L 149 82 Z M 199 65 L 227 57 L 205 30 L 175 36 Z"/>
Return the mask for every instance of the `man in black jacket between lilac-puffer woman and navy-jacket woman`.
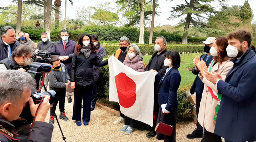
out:
<path id="1" fill-rule="evenodd" d="M 153 70 L 156 70 L 161 77 L 164 75 L 166 69 L 168 68 L 164 66 L 164 59 L 165 59 L 164 54 L 167 52 L 166 44 L 167 44 L 167 41 L 164 37 L 156 38 L 156 41 L 155 41 L 156 53 L 152 55 L 145 71 L 150 71 L 151 69 L 153 69 Z M 158 88 L 158 84 L 159 82 L 155 80 L 155 88 Z M 158 111 L 159 111 L 157 97 L 158 97 L 157 95 L 154 95 L 154 122 L 153 122 L 152 130 L 149 131 L 148 134 L 146 135 L 148 138 L 156 136 L 155 127 L 156 127 L 156 120 L 157 120 Z"/>

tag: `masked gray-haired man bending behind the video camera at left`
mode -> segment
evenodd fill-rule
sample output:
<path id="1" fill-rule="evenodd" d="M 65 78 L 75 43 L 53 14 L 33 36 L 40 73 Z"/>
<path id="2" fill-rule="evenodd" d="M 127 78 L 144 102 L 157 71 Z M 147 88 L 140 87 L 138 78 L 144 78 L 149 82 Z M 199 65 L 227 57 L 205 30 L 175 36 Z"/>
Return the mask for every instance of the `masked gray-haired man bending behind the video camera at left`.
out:
<path id="1" fill-rule="evenodd" d="M 6 70 L 26 71 L 24 69 L 29 68 L 28 65 L 33 62 L 31 59 L 33 56 L 33 51 L 34 50 L 26 44 L 19 45 L 12 52 L 12 56 L 9 56 L 8 58 L 1 61 L 1 72 Z"/>

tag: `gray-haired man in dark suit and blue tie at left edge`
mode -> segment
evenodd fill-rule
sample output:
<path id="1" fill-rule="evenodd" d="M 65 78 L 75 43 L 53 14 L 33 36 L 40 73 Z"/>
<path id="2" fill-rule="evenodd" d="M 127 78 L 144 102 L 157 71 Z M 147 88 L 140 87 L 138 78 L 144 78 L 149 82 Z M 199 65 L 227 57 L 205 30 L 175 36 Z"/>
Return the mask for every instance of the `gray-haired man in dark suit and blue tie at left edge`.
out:
<path id="1" fill-rule="evenodd" d="M 20 45 L 19 42 L 15 41 L 15 31 L 11 26 L 4 26 L 1 28 L 1 49 L 0 49 L 0 60 L 4 60 L 12 55 L 12 51 Z"/>

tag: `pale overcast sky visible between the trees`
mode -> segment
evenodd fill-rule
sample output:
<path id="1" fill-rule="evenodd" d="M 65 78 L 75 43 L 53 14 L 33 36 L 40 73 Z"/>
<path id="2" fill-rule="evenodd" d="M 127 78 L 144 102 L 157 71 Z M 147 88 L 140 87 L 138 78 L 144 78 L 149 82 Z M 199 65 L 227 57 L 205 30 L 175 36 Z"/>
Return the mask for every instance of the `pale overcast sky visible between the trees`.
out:
<path id="1" fill-rule="evenodd" d="M 116 3 L 113 3 L 113 0 L 72 0 L 74 5 L 72 6 L 70 4 L 70 2 L 68 1 L 67 3 L 67 16 L 68 18 L 75 18 L 75 15 L 76 15 L 76 7 L 78 6 L 96 6 L 97 4 L 100 4 L 100 3 L 105 3 L 105 2 L 111 2 L 110 4 L 110 7 L 113 7 L 116 9 Z M 63 12 L 63 16 L 64 16 L 64 11 L 65 11 L 65 0 L 62 0 L 62 4 L 61 4 L 61 7 L 60 7 L 60 11 Z M 229 2 L 227 2 L 227 4 L 230 4 L 230 5 L 243 5 L 245 2 L 245 0 L 229 0 Z M 253 14 L 254 16 L 256 15 L 256 0 L 248 0 L 249 4 L 251 5 L 251 8 L 253 10 Z M 52 3 L 54 3 L 54 0 L 52 0 Z M 179 23 L 179 19 L 174 19 L 174 20 L 167 20 L 167 18 L 171 15 L 170 11 L 171 11 L 171 7 L 174 7 L 175 5 L 177 4 L 182 4 L 184 3 L 183 0 L 174 0 L 173 2 L 170 2 L 170 1 L 165 1 L 165 0 L 158 0 L 158 4 L 159 4 L 159 7 L 157 9 L 157 11 L 160 11 L 161 14 L 160 16 L 157 16 L 156 17 L 156 20 L 155 20 L 155 26 L 163 26 L 163 25 L 175 25 L 177 23 Z M 4 7 L 4 6 L 8 6 L 10 4 L 14 4 L 12 3 L 12 0 L 4 0 L 2 1 L 1 0 L 1 7 Z M 215 3 L 212 3 L 211 4 L 212 6 L 214 7 L 217 7 L 217 8 L 220 8 L 220 5 L 219 3 L 215 2 Z"/>

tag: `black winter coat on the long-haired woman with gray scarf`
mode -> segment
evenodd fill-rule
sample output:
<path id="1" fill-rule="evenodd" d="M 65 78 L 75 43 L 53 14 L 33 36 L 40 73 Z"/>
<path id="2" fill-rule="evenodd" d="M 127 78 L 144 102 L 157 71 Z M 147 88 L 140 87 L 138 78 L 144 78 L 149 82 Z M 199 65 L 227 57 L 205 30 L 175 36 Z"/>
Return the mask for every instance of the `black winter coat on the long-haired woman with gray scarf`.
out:
<path id="1" fill-rule="evenodd" d="M 82 52 L 78 55 L 75 51 L 71 64 L 70 81 L 79 86 L 92 85 L 95 82 L 93 64 L 103 67 L 108 64 L 108 59 L 101 62 L 97 53 L 92 52 L 88 58 L 85 58 Z"/>

